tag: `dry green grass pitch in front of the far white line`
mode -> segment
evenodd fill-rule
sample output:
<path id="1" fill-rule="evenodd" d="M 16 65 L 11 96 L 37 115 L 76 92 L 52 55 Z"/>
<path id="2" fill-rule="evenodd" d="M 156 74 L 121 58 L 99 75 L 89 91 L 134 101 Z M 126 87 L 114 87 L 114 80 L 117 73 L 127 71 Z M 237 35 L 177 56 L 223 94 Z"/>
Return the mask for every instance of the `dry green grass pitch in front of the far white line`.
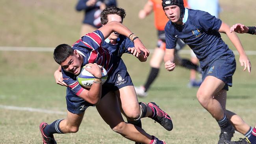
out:
<path id="1" fill-rule="evenodd" d="M 55 84 L 52 72 L 57 68 L 52 59 L 52 54 L 37 52 L 0 52 L 3 56 L 12 55 L 14 61 L 19 61 L 21 66 L 12 66 L 7 60 L 0 72 L 0 105 L 12 105 L 18 107 L 32 107 L 53 111 L 65 112 L 65 87 Z M 37 57 L 33 61 L 27 61 Z M 3 57 L 1 56 L 1 61 Z M 185 55 L 184 55 L 185 56 Z M 40 57 L 49 65 L 44 64 Z M 256 58 L 250 57 L 253 62 Z M 143 84 L 148 74 L 148 62 L 138 63 L 131 55 L 123 57 L 128 72 L 132 76 L 135 85 Z M 41 63 L 39 62 L 41 61 Z M 35 65 L 34 63 L 37 63 Z M 25 70 L 23 67 L 31 68 Z M 33 67 L 34 66 L 34 67 Z M 8 74 L 4 74 L 8 72 Z M 227 108 L 240 114 L 250 125 L 254 125 L 255 111 L 252 102 L 255 101 L 256 73 L 243 72 L 237 66 L 234 75 L 234 87 L 228 92 Z M 139 101 L 157 102 L 173 118 L 174 129 L 165 131 L 159 124 L 149 118 L 143 119 L 143 127 L 150 134 L 164 139 L 167 143 L 209 144 L 216 143 L 219 128 L 215 120 L 206 112 L 196 99 L 197 89 L 187 88 L 189 72 L 177 67 L 173 72 L 167 72 L 162 67 L 158 79 L 149 90 L 146 98 Z M 40 143 L 41 136 L 38 130 L 40 122 L 52 122 L 59 118 L 65 118 L 61 114 L 45 114 L 29 111 L 17 111 L 0 109 L 0 128 L 4 133 L 0 135 L 1 144 L 4 143 Z M 154 129 L 152 131 L 152 129 Z M 86 110 L 80 130 L 75 134 L 55 135 L 60 144 L 131 144 L 129 140 L 114 133 L 100 118 L 95 107 Z M 235 139 L 242 137 L 236 134 Z"/>

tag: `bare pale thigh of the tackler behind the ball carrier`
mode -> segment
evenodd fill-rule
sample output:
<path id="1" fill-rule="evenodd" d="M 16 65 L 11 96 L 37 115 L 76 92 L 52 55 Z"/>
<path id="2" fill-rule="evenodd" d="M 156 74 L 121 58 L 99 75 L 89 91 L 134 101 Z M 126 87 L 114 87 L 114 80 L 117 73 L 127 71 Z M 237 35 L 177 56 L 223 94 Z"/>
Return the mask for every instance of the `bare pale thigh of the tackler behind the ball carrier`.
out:
<path id="1" fill-rule="evenodd" d="M 140 113 L 140 106 L 138 103 L 137 95 L 133 85 L 122 87 L 115 91 L 115 94 L 121 103 L 122 110 L 128 117 L 137 117 L 136 114 Z"/>

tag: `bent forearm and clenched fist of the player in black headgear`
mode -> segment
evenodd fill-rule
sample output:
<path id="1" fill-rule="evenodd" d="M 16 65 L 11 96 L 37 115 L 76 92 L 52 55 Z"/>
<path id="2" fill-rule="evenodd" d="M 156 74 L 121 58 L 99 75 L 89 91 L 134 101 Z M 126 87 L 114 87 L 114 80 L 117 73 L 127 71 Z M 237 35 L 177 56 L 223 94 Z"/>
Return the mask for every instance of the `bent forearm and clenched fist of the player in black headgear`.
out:
<path id="1" fill-rule="evenodd" d="M 173 71 L 175 68 L 174 61 L 174 48 L 173 49 L 165 49 L 165 55 L 163 56 L 163 61 L 165 62 L 165 68 L 168 71 Z"/>

